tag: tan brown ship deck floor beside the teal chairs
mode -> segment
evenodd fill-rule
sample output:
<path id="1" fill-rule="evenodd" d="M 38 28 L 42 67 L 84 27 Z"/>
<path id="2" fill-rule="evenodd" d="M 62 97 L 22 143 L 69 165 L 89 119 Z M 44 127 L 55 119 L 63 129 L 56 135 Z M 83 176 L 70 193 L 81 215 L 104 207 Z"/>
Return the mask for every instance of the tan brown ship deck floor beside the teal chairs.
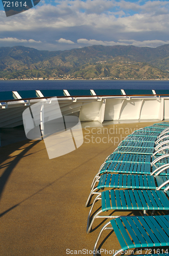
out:
<path id="1" fill-rule="evenodd" d="M 100 225 L 100 220 L 96 220 L 95 231 L 86 233 L 89 208 L 85 208 L 85 203 L 92 179 L 123 137 L 153 123 L 155 121 L 105 124 L 100 129 L 95 126 L 95 130 L 83 125 L 83 144 L 77 150 L 51 160 L 43 140 L 27 139 L 1 146 L 0 254 L 93 255 L 104 222 Z M 101 239 L 104 242 L 101 249 L 119 248 L 116 236 L 112 241 L 112 236 L 107 235 L 108 231 Z"/>

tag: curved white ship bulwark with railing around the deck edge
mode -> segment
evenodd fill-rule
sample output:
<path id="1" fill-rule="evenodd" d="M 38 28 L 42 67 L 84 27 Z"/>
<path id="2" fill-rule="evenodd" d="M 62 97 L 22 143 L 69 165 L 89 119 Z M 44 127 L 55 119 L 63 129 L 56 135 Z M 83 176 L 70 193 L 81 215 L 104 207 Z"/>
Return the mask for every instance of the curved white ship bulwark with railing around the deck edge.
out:
<path id="1" fill-rule="evenodd" d="M 80 121 L 121 121 L 121 120 L 166 120 L 169 119 L 169 95 L 97 96 L 94 90 L 91 95 L 74 96 L 64 90 L 58 96 L 62 115 L 78 116 Z M 0 127 L 15 127 L 23 124 L 22 113 L 30 105 L 39 101 L 50 101 L 41 91 L 36 91 L 36 98 L 24 98 L 15 91 L 13 99 L 2 100 L 0 94 Z M 65 96 L 64 96 L 65 95 Z M 76 94 L 77 95 L 77 94 Z M 57 96 L 57 95 L 54 95 Z"/>

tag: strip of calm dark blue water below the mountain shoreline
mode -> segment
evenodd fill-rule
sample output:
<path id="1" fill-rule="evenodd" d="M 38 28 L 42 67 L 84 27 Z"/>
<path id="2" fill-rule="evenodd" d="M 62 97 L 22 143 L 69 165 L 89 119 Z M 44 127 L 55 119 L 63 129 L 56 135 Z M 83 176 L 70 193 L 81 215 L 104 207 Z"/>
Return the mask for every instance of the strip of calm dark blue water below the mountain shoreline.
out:
<path id="1" fill-rule="evenodd" d="M 0 91 L 58 89 L 158 89 L 169 90 L 169 81 L 138 80 L 7 80 L 0 81 Z"/>

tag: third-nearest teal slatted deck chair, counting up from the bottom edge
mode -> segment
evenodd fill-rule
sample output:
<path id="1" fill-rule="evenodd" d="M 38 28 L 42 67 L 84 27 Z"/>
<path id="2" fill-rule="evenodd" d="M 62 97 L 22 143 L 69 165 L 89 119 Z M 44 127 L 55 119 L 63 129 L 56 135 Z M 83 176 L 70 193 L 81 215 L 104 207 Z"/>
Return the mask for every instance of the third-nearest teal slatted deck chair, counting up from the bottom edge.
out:
<path id="1" fill-rule="evenodd" d="M 169 176 L 134 175 L 134 174 L 103 174 L 96 179 L 86 202 L 86 207 L 93 195 L 99 195 L 100 190 L 111 188 L 129 189 L 165 189 Z"/>

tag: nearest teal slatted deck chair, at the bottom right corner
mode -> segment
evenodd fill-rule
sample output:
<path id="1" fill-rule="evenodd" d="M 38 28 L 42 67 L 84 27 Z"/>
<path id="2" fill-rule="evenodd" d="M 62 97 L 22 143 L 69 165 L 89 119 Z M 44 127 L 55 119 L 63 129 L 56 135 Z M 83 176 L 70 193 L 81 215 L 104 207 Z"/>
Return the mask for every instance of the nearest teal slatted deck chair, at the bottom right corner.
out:
<path id="1" fill-rule="evenodd" d="M 101 229 L 94 246 L 93 255 L 96 256 L 97 245 L 104 230 L 114 230 L 111 237 L 116 234 L 121 248 L 113 256 L 131 248 L 161 249 L 169 245 L 169 216 L 132 216 L 119 217 L 109 221 Z M 130 234 L 130 236 L 129 236 Z M 164 247 L 165 248 L 165 247 Z M 160 251 L 161 251 L 160 250 Z M 165 251 L 168 249 L 165 248 Z M 151 255 L 151 254 L 146 254 Z M 159 254 L 155 254 L 157 256 Z M 164 252 L 162 256 L 168 256 Z"/>

